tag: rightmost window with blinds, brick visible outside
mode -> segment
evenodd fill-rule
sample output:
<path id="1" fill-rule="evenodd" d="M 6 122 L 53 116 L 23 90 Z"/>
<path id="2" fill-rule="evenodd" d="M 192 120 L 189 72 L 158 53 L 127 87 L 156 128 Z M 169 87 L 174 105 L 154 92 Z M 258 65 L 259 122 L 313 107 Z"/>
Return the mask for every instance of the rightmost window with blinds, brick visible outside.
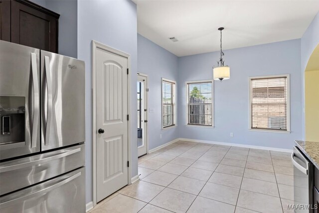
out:
<path id="1" fill-rule="evenodd" d="M 250 128 L 290 131 L 289 75 L 250 78 Z"/>

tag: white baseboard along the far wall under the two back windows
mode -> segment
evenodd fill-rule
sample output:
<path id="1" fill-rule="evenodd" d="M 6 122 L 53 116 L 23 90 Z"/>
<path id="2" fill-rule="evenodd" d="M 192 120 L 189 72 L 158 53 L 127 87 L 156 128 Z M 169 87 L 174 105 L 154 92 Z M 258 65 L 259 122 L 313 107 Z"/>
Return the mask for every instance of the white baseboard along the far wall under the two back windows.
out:
<path id="1" fill-rule="evenodd" d="M 234 143 L 225 143 L 225 142 L 217 142 L 217 141 L 204 141 L 204 140 L 195 140 L 195 139 L 188 139 L 188 138 L 178 138 L 177 141 L 191 141 L 191 142 L 198 142 L 198 143 L 205 143 L 205 144 L 219 144 L 219 145 L 226 145 L 226 146 L 244 147 L 244 148 L 251 148 L 251 149 L 262 149 L 262 150 L 271 150 L 271 151 L 278 151 L 278 152 L 289 152 L 289 153 L 293 152 L 292 149 L 262 147 L 262 146 L 254 146 L 254 145 L 246 145 L 246 144 L 234 144 Z"/>

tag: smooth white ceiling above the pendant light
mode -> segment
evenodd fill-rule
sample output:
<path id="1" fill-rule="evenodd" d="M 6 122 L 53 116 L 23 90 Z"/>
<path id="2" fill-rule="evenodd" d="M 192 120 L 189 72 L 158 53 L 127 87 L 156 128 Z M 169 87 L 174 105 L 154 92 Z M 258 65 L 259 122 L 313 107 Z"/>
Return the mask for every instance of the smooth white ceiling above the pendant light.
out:
<path id="1" fill-rule="evenodd" d="M 177 56 L 301 38 L 319 0 L 133 0 L 138 33 Z M 177 42 L 169 40 L 176 37 Z"/>

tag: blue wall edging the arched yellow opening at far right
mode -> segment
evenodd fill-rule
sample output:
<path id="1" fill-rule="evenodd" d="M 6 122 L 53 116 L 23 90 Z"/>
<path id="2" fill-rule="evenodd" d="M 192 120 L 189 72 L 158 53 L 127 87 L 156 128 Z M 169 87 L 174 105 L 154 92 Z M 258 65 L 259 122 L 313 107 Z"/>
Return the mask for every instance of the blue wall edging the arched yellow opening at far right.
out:
<path id="1" fill-rule="evenodd" d="M 305 69 L 314 49 L 319 45 L 319 13 L 307 28 L 301 38 L 301 78 L 302 78 L 302 109 L 303 109 L 303 139 L 305 139 Z"/>

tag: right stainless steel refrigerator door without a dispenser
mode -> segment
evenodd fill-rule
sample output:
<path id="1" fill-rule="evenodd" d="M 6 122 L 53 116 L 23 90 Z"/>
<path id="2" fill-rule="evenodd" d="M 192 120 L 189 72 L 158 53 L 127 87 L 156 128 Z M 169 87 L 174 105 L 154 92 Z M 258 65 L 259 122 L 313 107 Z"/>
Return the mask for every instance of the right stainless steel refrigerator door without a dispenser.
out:
<path id="1" fill-rule="evenodd" d="M 84 61 L 41 50 L 41 150 L 85 141 Z"/>

